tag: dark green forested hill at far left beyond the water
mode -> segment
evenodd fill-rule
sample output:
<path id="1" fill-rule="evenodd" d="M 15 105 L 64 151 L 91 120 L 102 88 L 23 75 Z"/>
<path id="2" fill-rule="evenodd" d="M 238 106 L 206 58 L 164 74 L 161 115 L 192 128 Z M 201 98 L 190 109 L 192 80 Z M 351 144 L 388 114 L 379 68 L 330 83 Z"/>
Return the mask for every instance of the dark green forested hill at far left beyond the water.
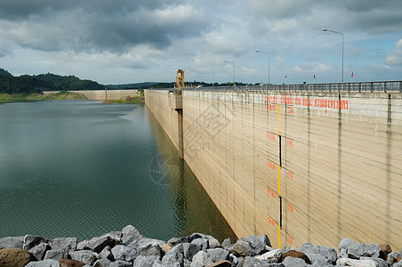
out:
<path id="1" fill-rule="evenodd" d="M 0 93 L 41 93 L 56 90 L 98 90 L 104 85 L 91 80 L 82 80 L 75 76 L 40 74 L 13 77 L 10 72 L 0 69 Z"/>

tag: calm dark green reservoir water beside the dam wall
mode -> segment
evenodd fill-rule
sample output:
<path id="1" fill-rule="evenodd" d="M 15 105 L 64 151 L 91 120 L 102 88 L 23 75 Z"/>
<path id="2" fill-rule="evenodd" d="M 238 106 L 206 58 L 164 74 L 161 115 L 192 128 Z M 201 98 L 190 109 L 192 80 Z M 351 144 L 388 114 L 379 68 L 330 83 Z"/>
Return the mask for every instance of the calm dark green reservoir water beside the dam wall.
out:
<path id="1" fill-rule="evenodd" d="M 83 240 L 128 224 L 155 239 L 236 239 L 144 105 L 0 104 L 0 238 Z"/>

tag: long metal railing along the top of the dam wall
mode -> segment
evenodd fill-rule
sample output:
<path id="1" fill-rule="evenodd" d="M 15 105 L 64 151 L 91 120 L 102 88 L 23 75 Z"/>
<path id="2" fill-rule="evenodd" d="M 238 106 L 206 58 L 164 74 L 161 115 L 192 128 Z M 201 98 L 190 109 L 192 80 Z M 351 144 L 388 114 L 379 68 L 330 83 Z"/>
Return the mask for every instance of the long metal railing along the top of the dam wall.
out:
<path id="1" fill-rule="evenodd" d="M 171 88 L 173 89 L 173 88 Z M 169 90 L 169 89 L 162 89 Z M 183 90 L 235 90 L 234 86 L 185 87 Z M 281 91 L 281 92 L 348 92 L 348 93 L 402 93 L 402 81 L 302 84 L 302 85 L 236 85 L 236 91 Z"/>

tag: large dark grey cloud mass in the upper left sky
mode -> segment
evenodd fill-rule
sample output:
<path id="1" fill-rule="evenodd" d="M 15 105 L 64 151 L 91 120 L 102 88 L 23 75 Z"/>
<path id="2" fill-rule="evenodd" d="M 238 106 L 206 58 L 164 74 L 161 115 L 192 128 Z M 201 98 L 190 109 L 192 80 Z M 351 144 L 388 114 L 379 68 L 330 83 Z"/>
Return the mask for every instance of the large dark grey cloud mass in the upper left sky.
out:
<path id="1" fill-rule="evenodd" d="M 138 44 L 164 48 L 210 27 L 201 12 L 175 2 L 0 1 L 0 20 L 9 27 L 6 37 L 24 47 L 124 53 Z"/>

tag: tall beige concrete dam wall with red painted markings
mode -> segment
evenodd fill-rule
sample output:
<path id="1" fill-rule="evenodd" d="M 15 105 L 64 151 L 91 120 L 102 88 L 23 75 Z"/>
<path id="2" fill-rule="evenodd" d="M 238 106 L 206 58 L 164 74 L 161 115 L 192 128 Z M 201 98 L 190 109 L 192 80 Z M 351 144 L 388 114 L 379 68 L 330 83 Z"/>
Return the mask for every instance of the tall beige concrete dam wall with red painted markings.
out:
<path id="1" fill-rule="evenodd" d="M 176 94 L 146 104 L 239 238 L 402 246 L 401 93 Z"/>

